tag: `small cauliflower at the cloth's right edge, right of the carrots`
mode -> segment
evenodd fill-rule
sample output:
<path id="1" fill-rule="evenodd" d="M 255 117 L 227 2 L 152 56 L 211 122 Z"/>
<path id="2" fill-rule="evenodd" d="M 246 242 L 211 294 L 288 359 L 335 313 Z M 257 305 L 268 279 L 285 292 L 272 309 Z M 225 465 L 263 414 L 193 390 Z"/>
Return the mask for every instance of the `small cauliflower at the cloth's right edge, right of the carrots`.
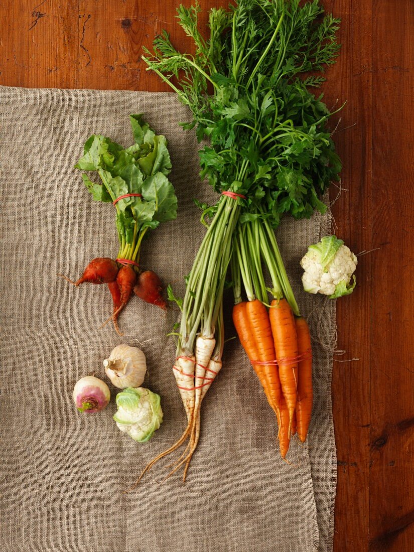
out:
<path id="1" fill-rule="evenodd" d="M 302 284 L 309 293 L 321 293 L 335 299 L 349 295 L 355 287 L 355 276 L 352 284 L 351 277 L 358 259 L 336 236 L 326 236 L 311 245 L 300 264 L 305 270 Z"/>

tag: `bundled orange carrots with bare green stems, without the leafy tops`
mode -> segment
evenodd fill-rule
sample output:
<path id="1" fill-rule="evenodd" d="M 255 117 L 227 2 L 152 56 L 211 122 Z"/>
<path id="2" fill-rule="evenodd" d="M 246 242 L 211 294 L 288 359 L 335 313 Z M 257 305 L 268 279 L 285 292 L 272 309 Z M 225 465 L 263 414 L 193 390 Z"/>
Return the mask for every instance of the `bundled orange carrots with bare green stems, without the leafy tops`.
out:
<path id="1" fill-rule="evenodd" d="M 272 288 L 266 288 L 264 264 Z M 259 222 L 241 225 L 231 261 L 233 323 L 278 421 L 280 455 L 290 436 L 305 442 L 312 411 L 312 349 L 309 326 L 300 316 L 273 230 Z M 243 284 L 247 301 L 242 300 Z M 273 296 L 269 309 L 268 292 Z"/>

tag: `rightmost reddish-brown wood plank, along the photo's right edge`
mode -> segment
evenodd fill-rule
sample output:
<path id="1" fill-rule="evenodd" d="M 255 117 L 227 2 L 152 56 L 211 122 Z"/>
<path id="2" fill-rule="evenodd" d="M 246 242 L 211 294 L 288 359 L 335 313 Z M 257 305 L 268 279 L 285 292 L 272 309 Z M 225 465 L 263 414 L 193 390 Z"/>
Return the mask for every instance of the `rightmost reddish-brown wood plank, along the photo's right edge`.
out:
<path id="1" fill-rule="evenodd" d="M 414 3 L 373 17 L 370 550 L 414 549 Z M 368 337 L 368 336 L 367 336 Z"/>

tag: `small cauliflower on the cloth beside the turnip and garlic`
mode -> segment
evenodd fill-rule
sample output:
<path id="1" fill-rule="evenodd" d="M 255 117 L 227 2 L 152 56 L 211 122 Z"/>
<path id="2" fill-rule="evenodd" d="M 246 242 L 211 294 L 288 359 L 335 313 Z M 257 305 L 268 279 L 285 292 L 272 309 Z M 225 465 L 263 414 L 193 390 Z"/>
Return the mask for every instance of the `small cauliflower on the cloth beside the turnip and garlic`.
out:
<path id="1" fill-rule="evenodd" d="M 151 439 L 162 422 L 160 395 L 143 387 L 125 389 L 116 395 L 118 411 L 114 420 L 118 428 L 135 441 Z"/>

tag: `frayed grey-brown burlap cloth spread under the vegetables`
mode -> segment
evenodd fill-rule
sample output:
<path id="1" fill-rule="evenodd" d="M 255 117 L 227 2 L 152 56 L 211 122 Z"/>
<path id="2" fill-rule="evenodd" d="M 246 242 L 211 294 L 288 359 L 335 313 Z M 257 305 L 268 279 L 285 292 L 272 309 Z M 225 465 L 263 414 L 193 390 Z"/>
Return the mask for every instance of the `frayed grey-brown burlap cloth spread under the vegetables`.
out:
<path id="1" fill-rule="evenodd" d="M 178 219 L 144 245 L 142 264 L 183 290 L 204 227 L 193 198 L 214 195 L 198 177 L 197 143 L 169 93 L 0 88 L 2 198 L 2 395 L 0 470 L 3 552 L 307 552 L 331 550 L 336 484 L 330 382 L 332 357 L 314 343 L 315 406 L 309 437 L 279 458 L 274 416 L 237 340 L 203 404 L 202 437 L 188 482 L 162 485 L 165 463 L 121 494 L 155 454 L 181 434 L 185 415 L 166 337 L 178 312 L 132 299 L 125 333 L 99 329 L 110 314 L 102 286 L 73 288 L 93 257 L 115 256 L 110 204 L 94 203 L 72 168 L 93 133 L 131 144 L 128 115 L 145 113 L 169 140 Z M 327 217 L 287 217 L 278 240 L 312 333 L 335 333 L 335 305 L 300 284 L 299 259 Z M 227 337 L 234 335 L 231 297 Z M 316 307 L 316 309 L 315 309 Z M 162 397 L 164 422 L 135 443 L 115 426 L 115 401 L 98 415 L 77 412 L 73 384 L 121 342 L 147 356 L 145 385 Z M 102 377 L 105 379 L 104 374 Z M 115 392 L 113 392 L 113 399 Z"/>

